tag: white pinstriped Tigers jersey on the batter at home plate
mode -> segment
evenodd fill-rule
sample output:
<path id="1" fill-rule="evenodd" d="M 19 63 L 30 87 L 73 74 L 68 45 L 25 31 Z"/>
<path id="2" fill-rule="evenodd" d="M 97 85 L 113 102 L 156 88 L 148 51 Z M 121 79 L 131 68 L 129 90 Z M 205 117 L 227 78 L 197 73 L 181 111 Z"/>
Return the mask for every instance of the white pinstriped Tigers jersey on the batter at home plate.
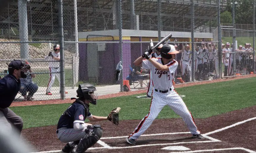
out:
<path id="1" fill-rule="evenodd" d="M 162 63 L 162 58 L 151 58 L 160 64 Z M 169 71 L 160 71 L 157 69 L 149 60 L 144 59 L 142 61 L 142 68 L 150 69 L 152 71 L 152 83 L 155 89 L 158 90 L 168 90 L 173 84 L 173 75 L 178 67 L 178 62 L 176 60 L 170 61 L 166 64 Z"/>

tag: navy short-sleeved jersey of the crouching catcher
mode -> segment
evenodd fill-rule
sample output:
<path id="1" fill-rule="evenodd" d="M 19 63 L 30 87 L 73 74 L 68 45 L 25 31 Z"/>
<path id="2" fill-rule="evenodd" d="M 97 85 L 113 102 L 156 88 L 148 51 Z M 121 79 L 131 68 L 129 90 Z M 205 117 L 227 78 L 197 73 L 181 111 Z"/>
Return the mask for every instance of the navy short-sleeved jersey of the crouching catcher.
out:
<path id="1" fill-rule="evenodd" d="M 77 99 L 76 101 L 79 100 Z M 61 127 L 74 128 L 74 121 L 85 123 L 87 115 L 90 116 L 89 105 L 85 104 L 83 106 L 81 103 L 75 102 L 61 115 L 57 129 Z"/>

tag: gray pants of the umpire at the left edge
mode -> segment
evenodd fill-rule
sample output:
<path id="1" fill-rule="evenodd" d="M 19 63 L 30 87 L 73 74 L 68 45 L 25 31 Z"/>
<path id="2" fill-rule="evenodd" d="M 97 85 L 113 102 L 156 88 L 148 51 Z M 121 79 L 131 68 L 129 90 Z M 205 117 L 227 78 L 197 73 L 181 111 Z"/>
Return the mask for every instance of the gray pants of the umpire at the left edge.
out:
<path id="1" fill-rule="evenodd" d="M 18 131 L 18 134 L 21 134 L 23 128 L 23 120 L 21 117 L 16 115 L 9 108 L 0 108 L 0 124 L 3 125 L 5 130 L 9 131 L 12 127 L 15 127 Z"/>

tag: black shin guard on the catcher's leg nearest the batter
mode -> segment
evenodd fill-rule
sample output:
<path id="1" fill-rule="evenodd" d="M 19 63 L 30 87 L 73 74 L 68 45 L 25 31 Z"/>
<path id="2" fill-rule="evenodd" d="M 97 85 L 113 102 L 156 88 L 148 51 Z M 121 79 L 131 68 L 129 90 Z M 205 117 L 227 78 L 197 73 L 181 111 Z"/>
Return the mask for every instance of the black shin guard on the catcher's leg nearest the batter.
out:
<path id="1" fill-rule="evenodd" d="M 96 144 L 97 141 L 102 137 L 103 130 L 100 125 L 93 125 L 93 130 L 86 133 L 77 146 L 77 153 L 83 153 L 88 148 Z"/>

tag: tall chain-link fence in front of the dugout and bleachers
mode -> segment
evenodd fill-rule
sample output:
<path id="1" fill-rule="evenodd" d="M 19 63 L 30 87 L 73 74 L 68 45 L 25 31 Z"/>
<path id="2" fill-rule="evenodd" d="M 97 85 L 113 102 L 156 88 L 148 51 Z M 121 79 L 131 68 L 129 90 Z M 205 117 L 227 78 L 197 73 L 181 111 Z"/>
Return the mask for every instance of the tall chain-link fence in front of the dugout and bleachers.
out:
<path id="1" fill-rule="evenodd" d="M 24 96 L 26 100 L 76 97 L 80 83 L 96 85 L 99 95 L 147 89 L 149 70 L 133 62 L 150 39 L 157 44 L 171 33 L 164 44 L 180 51 L 175 83 L 231 76 L 236 72 L 225 74 L 223 59 L 232 53 L 222 53 L 218 42 L 222 38 L 222 43 L 231 45 L 233 29 L 241 39 L 250 39 L 254 28 L 218 26 L 220 13 L 228 7 L 220 0 L 11 2 L 0 17 L 0 75 L 7 74 L 10 60 L 30 63 L 31 77 L 22 81 L 18 101 Z"/>

